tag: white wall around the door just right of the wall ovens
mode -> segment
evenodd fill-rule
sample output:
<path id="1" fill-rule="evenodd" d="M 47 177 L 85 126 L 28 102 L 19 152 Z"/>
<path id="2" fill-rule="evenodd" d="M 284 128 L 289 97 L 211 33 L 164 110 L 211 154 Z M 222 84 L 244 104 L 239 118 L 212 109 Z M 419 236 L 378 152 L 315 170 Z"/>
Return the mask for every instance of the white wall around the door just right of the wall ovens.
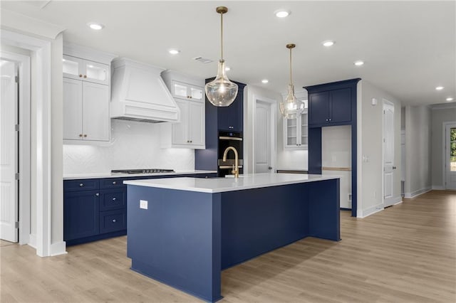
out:
<path id="1" fill-rule="evenodd" d="M 244 174 L 251 174 L 254 171 L 254 112 L 256 107 L 256 100 L 262 100 L 266 102 L 275 102 L 276 121 L 273 122 L 277 125 L 276 127 L 276 151 L 279 149 L 279 142 L 283 142 L 279 136 L 281 136 L 282 129 L 281 120 L 279 115 L 279 102 L 281 95 L 278 92 L 266 90 L 263 87 L 257 87 L 254 85 L 247 85 L 244 88 Z M 274 104 L 274 103 L 273 103 Z M 274 105 L 273 105 L 274 106 Z M 280 141 L 281 140 L 281 141 Z M 276 159 L 278 156 L 276 156 Z M 271 159 L 273 167 L 276 169 L 276 159 Z"/>

